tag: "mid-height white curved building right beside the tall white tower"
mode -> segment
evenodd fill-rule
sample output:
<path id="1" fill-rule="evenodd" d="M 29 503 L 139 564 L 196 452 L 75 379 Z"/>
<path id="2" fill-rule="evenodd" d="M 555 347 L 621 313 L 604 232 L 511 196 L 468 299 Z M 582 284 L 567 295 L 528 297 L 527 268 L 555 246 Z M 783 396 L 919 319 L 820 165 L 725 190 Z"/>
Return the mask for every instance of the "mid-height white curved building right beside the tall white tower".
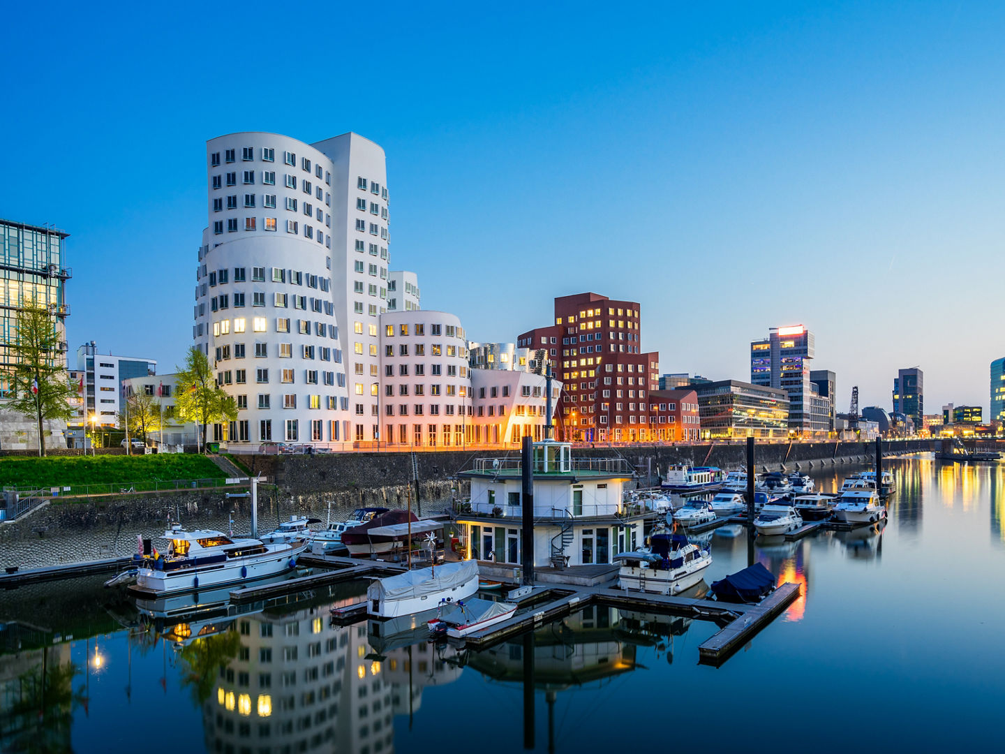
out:
<path id="1" fill-rule="evenodd" d="M 381 317 L 382 408 L 388 447 L 470 441 L 471 380 L 454 315 L 420 310 Z"/>

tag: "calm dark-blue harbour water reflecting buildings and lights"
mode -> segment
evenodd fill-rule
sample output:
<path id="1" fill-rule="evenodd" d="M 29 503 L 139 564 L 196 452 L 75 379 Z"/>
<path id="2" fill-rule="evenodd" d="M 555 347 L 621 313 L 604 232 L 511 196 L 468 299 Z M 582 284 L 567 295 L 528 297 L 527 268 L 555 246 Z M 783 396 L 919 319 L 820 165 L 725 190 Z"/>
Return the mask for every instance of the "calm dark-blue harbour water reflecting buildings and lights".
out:
<path id="1" fill-rule="evenodd" d="M 697 665 L 713 623 L 608 608 L 473 653 L 330 625 L 364 584 L 210 614 L 172 638 L 211 637 L 182 643 L 97 579 L 0 593 L 0 749 L 510 752 L 525 743 L 530 651 L 540 751 L 1000 751 L 1005 466 L 889 467 L 881 531 L 756 544 L 805 597 L 719 669 Z M 812 476 L 826 492 L 845 470 Z M 746 534 L 731 533 L 712 536 L 707 581 L 747 565 Z"/>

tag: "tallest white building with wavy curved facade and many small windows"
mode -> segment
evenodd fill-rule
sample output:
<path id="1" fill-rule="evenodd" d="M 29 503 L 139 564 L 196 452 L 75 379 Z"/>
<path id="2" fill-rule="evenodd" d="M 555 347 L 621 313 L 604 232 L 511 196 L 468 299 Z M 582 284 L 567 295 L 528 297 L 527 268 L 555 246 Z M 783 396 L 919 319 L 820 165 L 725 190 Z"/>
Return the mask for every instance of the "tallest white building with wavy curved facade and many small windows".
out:
<path id="1" fill-rule="evenodd" d="M 261 132 L 206 144 L 193 339 L 240 415 L 214 434 L 351 447 L 380 425 L 387 307 L 384 151 Z"/>

